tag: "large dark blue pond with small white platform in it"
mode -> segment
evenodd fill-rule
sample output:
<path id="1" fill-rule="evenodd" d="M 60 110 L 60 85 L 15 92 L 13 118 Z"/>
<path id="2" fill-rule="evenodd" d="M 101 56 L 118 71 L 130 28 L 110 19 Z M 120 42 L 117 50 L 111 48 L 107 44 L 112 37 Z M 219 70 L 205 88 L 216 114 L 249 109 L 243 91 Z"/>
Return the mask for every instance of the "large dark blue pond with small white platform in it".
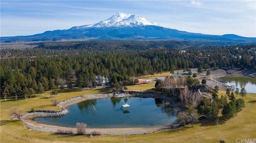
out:
<path id="1" fill-rule="evenodd" d="M 121 108 L 125 103 L 130 107 Z M 64 127 L 75 127 L 77 122 L 83 122 L 88 128 L 160 127 L 177 121 L 177 110 L 155 98 L 100 98 L 67 108 L 70 113 L 65 116 L 35 118 L 35 121 Z"/>

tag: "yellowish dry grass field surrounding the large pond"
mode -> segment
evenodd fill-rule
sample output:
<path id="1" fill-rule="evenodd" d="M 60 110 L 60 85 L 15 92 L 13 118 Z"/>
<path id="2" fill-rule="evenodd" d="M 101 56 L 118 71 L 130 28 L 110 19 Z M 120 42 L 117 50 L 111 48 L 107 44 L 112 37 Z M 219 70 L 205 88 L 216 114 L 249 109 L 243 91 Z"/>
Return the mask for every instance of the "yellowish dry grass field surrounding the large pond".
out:
<path id="1" fill-rule="evenodd" d="M 168 76 L 169 73 L 165 74 Z M 165 74 L 163 73 L 161 76 Z M 155 77 L 150 76 L 148 79 Z M 147 91 L 154 88 L 154 83 L 127 87 L 130 91 Z M 93 88 L 84 91 L 65 89 L 63 92 L 60 90 L 58 92 L 58 100 L 64 100 L 78 95 L 108 92 L 108 89 Z M 7 102 L 4 99 L 0 100 L 1 143 L 217 143 L 220 139 L 226 143 L 236 143 L 237 138 L 256 138 L 256 94 L 247 94 L 244 97 L 246 108 L 228 121 L 220 118 L 218 126 L 216 126 L 215 121 L 202 120 L 196 123 L 194 127 L 186 125 L 179 129 L 143 135 L 99 135 L 92 138 L 83 135 L 62 135 L 32 131 L 20 121 L 9 120 L 12 117 L 9 115 L 12 108 L 22 109 L 23 112 L 28 112 L 31 108 L 35 110 L 60 110 L 60 108 L 52 106 L 51 98 L 47 97 L 49 93 L 50 91 L 38 98 L 28 98 L 27 102 L 25 99 L 15 101 L 15 98 L 8 98 Z M 219 97 L 221 94 L 225 94 L 225 91 L 220 91 Z"/>

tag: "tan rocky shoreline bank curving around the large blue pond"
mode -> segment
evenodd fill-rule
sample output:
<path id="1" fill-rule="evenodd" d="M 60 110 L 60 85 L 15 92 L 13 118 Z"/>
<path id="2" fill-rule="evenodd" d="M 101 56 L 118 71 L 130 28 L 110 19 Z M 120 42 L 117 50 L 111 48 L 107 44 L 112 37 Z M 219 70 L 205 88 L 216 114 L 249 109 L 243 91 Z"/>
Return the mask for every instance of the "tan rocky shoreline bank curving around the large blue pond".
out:
<path id="1" fill-rule="evenodd" d="M 169 103 L 168 106 L 173 108 L 180 108 L 182 110 L 186 110 L 185 106 L 178 104 L 172 98 L 164 96 L 162 94 L 154 93 L 154 92 L 129 92 L 126 94 L 126 97 L 142 97 L 142 98 L 161 98 L 165 102 Z M 76 133 L 76 128 L 70 127 L 60 127 L 54 125 L 46 125 L 42 123 L 38 123 L 33 119 L 36 117 L 59 117 L 69 113 L 66 109 L 67 106 L 72 104 L 90 100 L 95 98 L 110 98 L 112 97 L 111 93 L 102 93 L 102 94 L 88 94 L 84 96 L 76 96 L 72 98 L 68 98 L 62 100 L 57 104 L 58 107 L 62 108 L 60 111 L 51 111 L 51 110 L 36 110 L 35 112 L 27 112 L 21 117 L 22 122 L 26 125 L 28 129 L 32 129 L 34 131 L 42 131 L 42 132 L 56 132 L 59 133 L 60 131 L 72 131 L 72 133 Z M 12 118 L 15 119 L 15 118 Z M 150 127 L 150 128 L 87 128 L 86 131 L 88 134 L 92 133 L 93 131 L 98 131 L 102 135 L 137 135 L 137 134 L 147 134 L 147 133 L 154 133 L 156 131 L 161 131 L 164 129 L 174 129 L 181 127 L 179 124 L 171 125 L 170 127 Z"/>

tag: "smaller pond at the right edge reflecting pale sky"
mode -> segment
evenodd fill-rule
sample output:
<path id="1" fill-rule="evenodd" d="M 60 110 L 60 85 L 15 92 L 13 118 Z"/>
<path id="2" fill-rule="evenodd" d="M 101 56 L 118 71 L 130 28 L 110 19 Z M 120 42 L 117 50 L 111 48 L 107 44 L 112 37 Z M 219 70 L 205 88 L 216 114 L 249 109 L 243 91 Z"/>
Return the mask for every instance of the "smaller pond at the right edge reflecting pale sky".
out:
<path id="1" fill-rule="evenodd" d="M 222 80 L 228 81 L 226 84 L 235 85 L 235 89 L 245 88 L 247 93 L 256 93 L 256 78 L 248 76 L 222 76 Z"/>

